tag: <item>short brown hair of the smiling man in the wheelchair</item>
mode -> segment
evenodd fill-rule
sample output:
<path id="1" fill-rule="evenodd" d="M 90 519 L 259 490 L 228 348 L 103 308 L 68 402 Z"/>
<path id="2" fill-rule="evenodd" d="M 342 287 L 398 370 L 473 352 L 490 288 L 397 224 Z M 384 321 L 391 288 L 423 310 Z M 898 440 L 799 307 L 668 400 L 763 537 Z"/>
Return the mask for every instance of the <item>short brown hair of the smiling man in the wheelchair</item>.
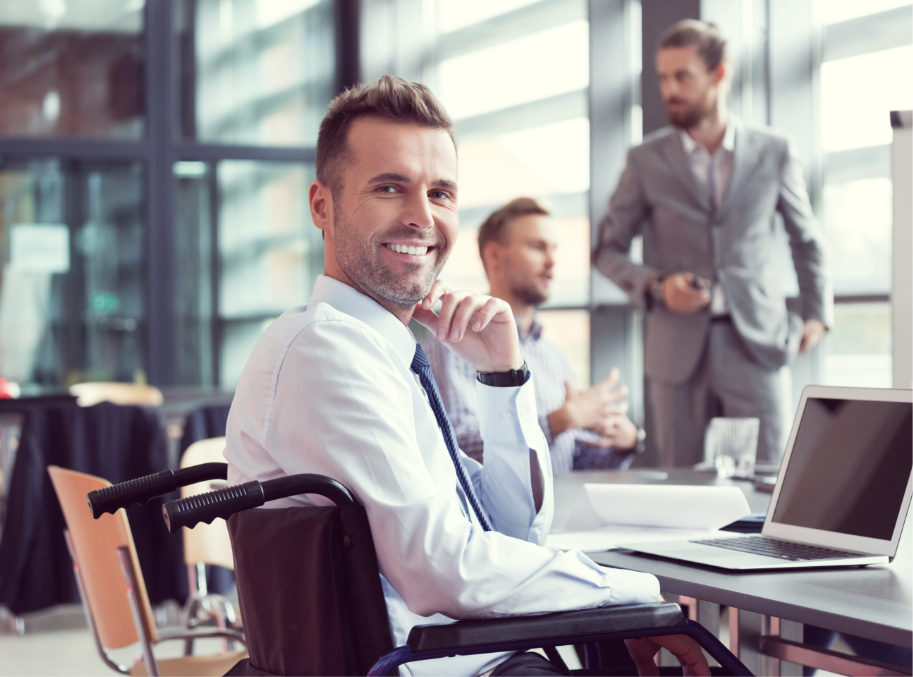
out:
<path id="1" fill-rule="evenodd" d="M 362 117 L 443 129 L 456 148 L 453 122 L 425 85 L 392 75 L 359 83 L 330 102 L 317 135 L 317 179 L 333 195 L 342 188 L 341 170 L 352 157 L 352 151 L 346 145 L 349 127 Z"/>

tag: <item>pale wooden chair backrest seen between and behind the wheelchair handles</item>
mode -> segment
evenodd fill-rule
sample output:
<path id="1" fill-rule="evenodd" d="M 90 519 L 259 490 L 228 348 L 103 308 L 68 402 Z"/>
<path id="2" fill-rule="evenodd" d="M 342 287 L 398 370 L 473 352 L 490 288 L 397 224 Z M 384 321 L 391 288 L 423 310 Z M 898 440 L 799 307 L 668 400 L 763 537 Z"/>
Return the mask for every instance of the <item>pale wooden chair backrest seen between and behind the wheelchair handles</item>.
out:
<path id="1" fill-rule="evenodd" d="M 201 463 L 224 463 L 222 452 L 225 449 L 224 437 L 213 437 L 194 442 L 181 456 L 181 467 L 188 468 Z M 196 496 L 214 489 L 227 486 L 224 481 L 198 482 L 181 487 L 181 498 Z M 184 562 L 196 564 L 217 564 L 226 569 L 234 569 L 234 558 L 231 555 L 231 539 L 225 520 L 215 519 L 212 524 L 200 523 L 193 529 L 182 529 L 184 533 Z"/>

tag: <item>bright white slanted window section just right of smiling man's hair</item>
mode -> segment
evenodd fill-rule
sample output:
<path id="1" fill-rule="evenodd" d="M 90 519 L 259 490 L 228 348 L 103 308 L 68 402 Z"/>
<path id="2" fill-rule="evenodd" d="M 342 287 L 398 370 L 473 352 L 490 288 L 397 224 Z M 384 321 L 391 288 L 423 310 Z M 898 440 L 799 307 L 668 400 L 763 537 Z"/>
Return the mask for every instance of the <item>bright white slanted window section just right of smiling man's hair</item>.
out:
<path id="1" fill-rule="evenodd" d="M 584 89 L 589 73 L 589 23 L 578 20 L 442 61 L 436 93 L 459 120 Z"/>

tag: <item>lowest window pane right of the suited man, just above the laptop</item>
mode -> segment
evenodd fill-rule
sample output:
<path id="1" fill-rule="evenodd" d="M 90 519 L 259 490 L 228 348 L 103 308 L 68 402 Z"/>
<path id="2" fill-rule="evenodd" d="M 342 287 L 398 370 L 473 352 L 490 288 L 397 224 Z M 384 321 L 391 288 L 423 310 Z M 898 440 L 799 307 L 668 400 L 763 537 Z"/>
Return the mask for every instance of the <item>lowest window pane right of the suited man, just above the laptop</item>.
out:
<path id="1" fill-rule="evenodd" d="M 890 388 L 891 306 L 843 303 L 823 341 L 824 385 Z"/>

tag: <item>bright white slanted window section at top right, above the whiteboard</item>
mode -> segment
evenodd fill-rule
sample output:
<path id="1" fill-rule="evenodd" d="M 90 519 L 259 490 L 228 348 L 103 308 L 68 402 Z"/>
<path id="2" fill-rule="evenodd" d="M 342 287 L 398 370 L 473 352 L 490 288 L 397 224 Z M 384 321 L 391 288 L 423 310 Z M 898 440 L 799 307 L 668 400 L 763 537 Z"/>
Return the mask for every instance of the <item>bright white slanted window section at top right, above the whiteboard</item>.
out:
<path id="1" fill-rule="evenodd" d="M 891 143 L 890 112 L 913 108 L 913 45 L 821 66 L 824 150 Z"/>

